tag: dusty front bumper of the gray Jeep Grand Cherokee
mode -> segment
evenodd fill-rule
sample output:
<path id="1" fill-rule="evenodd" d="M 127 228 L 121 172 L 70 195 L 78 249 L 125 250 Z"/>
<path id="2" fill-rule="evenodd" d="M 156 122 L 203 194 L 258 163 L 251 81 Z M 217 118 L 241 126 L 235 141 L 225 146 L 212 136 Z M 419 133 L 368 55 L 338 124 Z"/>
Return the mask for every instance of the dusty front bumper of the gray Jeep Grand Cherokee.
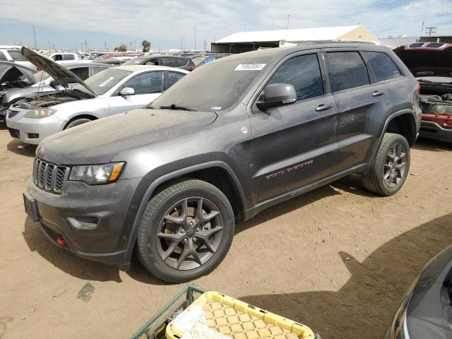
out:
<path id="1" fill-rule="evenodd" d="M 24 196 L 34 204 L 36 221 L 54 244 L 82 258 L 126 267 L 130 263 L 127 245 L 132 230 L 126 216 L 138 182 L 139 178 L 97 186 L 66 182 L 61 195 L 57 195 L 29 180 Z M 96 226 L 83 230 L 73 220 L 95 220 Z M 59 237 L 66 244 L 58 244 Z"/>

